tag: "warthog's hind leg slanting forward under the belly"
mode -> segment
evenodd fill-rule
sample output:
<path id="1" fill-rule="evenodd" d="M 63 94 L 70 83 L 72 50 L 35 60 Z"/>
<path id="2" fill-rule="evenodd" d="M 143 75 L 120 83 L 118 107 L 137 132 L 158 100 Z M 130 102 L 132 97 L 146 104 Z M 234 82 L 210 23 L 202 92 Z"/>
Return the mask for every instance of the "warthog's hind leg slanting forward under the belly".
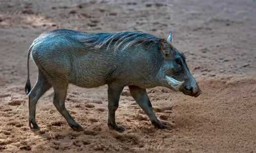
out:
<path id="1" fill-rule="evenodd" d="M 64 84 L 64 85 L 63 85 Z M 83 128 L 79 125 L 72 116 L 68 113 L 65 107 L 65 99 L 67 95 L 67 87 L 68 85 L 65 83 L 60 83 L 54 85 L 54 100 L 53 104 L 57 108 L 57 110 L 61 113 L 63 117 L 67 120 L 69 126 L 75 131 L 82 131 Z"/>

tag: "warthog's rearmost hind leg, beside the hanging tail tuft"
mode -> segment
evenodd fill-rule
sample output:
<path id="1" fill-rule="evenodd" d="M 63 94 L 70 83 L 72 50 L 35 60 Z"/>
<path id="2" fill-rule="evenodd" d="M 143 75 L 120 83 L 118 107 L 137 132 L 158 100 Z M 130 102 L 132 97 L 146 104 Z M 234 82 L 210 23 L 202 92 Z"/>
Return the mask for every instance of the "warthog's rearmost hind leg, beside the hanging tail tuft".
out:
<path id="1" fill-rule="evenodd" d="M 28 117 L 28 125 L 32 129 L 38 129 L 38 125 L 35 121 L 35 108 L 38 99 L 45 94 L 51 88 L 51 84 L 47 81 L 45 75 L 38 69 L 38 78 L 37 82 L 34 85 L 33 89 L 29 93 L 28 96 L 28 109 L 29 109 L 29 117 Z"/>

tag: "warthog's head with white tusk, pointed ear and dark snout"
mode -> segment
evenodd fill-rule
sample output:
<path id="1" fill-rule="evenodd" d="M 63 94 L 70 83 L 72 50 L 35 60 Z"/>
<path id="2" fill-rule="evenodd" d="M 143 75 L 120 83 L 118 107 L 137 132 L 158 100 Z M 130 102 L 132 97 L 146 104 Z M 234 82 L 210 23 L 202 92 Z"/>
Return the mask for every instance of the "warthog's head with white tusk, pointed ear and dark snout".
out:
<path id="1" fill-rule="evenodd" d="M 159 40 L 159 51 L 164 59 L 158 77 L 164 87 L 197 97 L 202 91 L 189 71 L 185 56 L 173 46 L 172 40 L 172 32 L 167 39 Z"/>

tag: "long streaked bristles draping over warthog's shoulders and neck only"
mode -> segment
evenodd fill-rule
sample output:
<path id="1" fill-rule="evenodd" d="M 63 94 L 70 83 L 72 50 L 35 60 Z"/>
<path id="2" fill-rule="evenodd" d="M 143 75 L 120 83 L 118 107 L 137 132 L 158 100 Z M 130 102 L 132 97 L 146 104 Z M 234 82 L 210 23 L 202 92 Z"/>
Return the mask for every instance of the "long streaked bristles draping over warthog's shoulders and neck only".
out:
<path id="1" fill-rule="evenodd" d="M 79 41 L 94 49 L 100 49 L 103 46 L 109 49 L 110 46 L 113 46 L 116 52 L 122 45 L 124 45 L 122 50 L 135 44 L 150 48 L 157 44 L 159 39 L 159 37 L 139 31 L 123 31 L 119 33 L 91 33 L 86 39 L 79 39 Z"/>

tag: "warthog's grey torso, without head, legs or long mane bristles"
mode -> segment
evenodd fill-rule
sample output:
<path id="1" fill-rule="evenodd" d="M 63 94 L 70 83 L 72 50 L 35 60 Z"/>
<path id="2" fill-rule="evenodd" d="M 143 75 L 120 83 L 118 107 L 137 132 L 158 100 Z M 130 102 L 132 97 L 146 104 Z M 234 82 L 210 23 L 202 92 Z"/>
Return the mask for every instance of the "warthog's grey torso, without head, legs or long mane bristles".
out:
<path id="1" fill-rule="evenodd" d="M 92 49 L 82 42 L 83 39 L 90 39 L 90 35 L 70 30 L 47 33 L 35 40 L 31 52 L 34 62 L 45 69 L 50 78 L 58 77 L 62 84 L 71 83 L 84 88 L 112 82 L 142 88 L 156 86 L 153 75 L 160 68 L 160 63 L 156 62 L 161 62 L 163 57 L 153 48 L 146 50 L 137 45 L 113 51 L 113 45 L 108 49 L 106 45 Z"/>

